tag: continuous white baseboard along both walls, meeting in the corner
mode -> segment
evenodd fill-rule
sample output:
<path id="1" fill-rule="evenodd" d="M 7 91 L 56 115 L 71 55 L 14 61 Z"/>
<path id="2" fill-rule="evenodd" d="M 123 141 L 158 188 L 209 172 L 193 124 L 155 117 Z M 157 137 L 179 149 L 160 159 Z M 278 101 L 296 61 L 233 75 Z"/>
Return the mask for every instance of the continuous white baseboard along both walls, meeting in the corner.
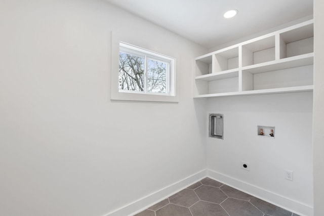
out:
<path id="1" fill-rule="evenodd" d="M 231 178 L 211 169 L 201 170 L 192 176 L 189 176 L 121 208 L 109 212 L 108 214 L 105 214 L 105 216 L 134 215 L 206 177 L 224 183 L 230 187 L 236 188 L 281 208 L 295 212 L 300 216 L 313 216 L 313 207 L 310 205 L 281 196 L 258 186 L 242 182 L 238 179 Z"/>

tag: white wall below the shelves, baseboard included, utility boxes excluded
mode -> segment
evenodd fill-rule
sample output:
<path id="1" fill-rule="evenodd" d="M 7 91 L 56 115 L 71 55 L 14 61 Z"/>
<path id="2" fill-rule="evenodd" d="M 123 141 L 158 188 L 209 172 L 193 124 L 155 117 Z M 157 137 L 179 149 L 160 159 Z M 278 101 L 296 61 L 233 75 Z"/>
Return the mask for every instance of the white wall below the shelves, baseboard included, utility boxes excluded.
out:
<path id="1" fill-rule="evenodd" d="M 312 92 L 209 99 L 206 119 L 208 113 L 224 114 L 224 140 L 207 141 L 212 177 L 312 214 Z M 275 126 L 275 138 L 257 136 L 257 125 Z M 286 169 L 294 171 L 293 182 Z"/>

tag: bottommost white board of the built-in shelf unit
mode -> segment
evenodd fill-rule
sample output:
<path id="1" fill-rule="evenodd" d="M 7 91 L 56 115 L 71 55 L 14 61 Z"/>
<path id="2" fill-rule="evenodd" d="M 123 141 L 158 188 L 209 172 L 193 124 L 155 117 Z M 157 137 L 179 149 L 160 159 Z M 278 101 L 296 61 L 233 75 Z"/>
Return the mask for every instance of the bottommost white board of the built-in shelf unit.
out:
<path id="1" fill-rule="evenodd" d="M 226 96 L 240 96 L 240 95 L 266 95 L 266 94 L 278 94 L 278 93 L 293 93 L 293 92 L 310 92 L 313 91 L 314 85 L 303 85 L 299 87 L 287 87 L 277 89 L 262 89 L 252 91 L 241 92 L 226 92 L 207 95 L 197 95 L 194 98 L 213 98 L 213 97 L 226 97 Z"/>

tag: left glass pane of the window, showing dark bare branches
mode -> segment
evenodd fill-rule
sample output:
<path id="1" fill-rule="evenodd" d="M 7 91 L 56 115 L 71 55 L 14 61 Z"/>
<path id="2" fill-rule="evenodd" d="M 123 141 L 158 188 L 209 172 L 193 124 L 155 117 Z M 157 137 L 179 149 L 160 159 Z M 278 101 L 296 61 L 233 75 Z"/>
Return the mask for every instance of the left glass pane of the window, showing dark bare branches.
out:
<path id="1" fill-rule="evenodd" d="M 119 52 L 119 90 L 144 91 L 144 58 Z"/>

